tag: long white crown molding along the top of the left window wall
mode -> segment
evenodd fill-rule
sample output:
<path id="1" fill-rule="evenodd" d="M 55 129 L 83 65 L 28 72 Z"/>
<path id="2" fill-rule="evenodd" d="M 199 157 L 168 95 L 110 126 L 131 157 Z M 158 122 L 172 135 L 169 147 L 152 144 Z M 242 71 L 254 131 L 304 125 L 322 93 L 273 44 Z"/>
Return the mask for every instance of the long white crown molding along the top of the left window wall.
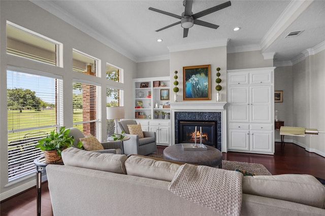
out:
<path id="1" fill-rule="evenodd" d="M 93 37 L 94 39 L 102 42 L 104 45 L 110 47 L 111 49 L 115 50 L 116 52 L 120 53 L 121 55 L 131 59 L 132 61 L 137 62 L 137 58 L 124 50 L 123 48 L 117 46 L 113 41 L 108 39 L 107 37 L 103 37 L 100 33 L 95 31 L 93 28 L 84 25 L 79 20 L 75 19 L 73 16 L 70 15 L 64 9 L 58 7 L 51 1 L 38 1 L 38 0 L 29 0 L 31 3 L 37 5 L 38 7 L 48 11 L 49 13 L 53 14 L 54 16 L 58 17 L 59 19 L 63 20 L 64 22 L 69 23 L 70 25 L 74 26 L 75 28 L 79 29 L 80 31 L 84 32 L 85 34 Z"/>

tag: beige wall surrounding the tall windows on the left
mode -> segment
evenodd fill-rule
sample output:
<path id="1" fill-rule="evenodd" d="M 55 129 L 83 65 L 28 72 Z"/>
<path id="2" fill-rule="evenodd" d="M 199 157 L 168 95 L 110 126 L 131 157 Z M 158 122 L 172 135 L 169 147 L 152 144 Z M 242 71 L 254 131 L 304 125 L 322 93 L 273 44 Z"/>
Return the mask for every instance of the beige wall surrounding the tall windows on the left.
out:
<path id="1" fill-rule="evenodd" d="M 63 125 L 73 126 L 72 118 L 72 82 L 74 78 L 98 83 L 101 86 L 102 110 L 101 122 L 106 122 L 106 87 L 122 88 L 124 95 L 133 95 L 133 78 L 136 77 L 136 63 L 103 45 L 68 23 L 51 15 L 29 1 L 0 1 L 0 192 L 1 200 L 35 186 L 35 174 L 24 180 L 8 183 L 8 138 L 7 138 L 7 65 L 44 71 L 63 77 Z M 63 67 L 38 63 L 28 59 L 6 54 L 6 20 L 40 33 L 63 44 Z M 72 71 L 72 49 L 77 49 L 95 58 L 101 59 L 99 68 L 101 77 L 88 76 Z M 106 80 L 106 62 L 120 67 L 124 71 L 124 83 Z M 125 107 L 133 107 L 132 100 L 124 100 Z M 126 118 L 132 118 L 133 109 L 126 109 Z M 99 132 L 106 140 L 106 124 Z"/>

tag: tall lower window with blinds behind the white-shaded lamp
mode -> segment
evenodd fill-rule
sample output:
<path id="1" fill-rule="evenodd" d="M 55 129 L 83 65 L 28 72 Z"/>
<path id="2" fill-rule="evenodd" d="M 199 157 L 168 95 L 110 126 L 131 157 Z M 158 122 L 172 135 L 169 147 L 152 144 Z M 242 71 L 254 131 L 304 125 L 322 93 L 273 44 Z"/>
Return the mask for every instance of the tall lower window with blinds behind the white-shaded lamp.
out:
<path id="1" fill-rule="evenodd" d="M 124 91 L 119 89 L 106 88 L 106 106 L 124 106 Z M 115 123 L 113 119 L 107 120 L 107 137 L 111 137 L 115 131 Z"/>

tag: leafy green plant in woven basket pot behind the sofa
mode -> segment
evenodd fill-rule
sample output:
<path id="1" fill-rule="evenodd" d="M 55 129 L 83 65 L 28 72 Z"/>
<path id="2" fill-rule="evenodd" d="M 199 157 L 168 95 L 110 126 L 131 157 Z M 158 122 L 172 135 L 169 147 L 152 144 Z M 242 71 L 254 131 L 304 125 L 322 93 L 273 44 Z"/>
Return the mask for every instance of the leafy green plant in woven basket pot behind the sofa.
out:
<path id="1" fill-rule="evenodd" d="M 66 130 L 66 127 L 62 126 L 58 132 L 54 129 L 49 135 L 38 141 L 39 144 L 35 147 L 44 151 L 46 163 L 62 162 L 61 152 L 71 147 L 75 140 L 69 133 L 70 129 Z"/>

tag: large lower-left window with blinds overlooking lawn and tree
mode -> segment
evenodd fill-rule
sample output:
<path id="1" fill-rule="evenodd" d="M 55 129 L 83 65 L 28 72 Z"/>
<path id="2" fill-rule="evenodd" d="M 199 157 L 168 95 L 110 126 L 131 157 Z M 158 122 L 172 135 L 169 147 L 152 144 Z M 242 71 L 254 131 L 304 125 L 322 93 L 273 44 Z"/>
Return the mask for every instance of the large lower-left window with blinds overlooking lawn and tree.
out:
<path id="1" fill-rule="evenodd" d="M 9 181 L 35 172 L 43 155 L 37 141 L 60 125 L 62 79 L 23 68 L 7 68 Z"/>

